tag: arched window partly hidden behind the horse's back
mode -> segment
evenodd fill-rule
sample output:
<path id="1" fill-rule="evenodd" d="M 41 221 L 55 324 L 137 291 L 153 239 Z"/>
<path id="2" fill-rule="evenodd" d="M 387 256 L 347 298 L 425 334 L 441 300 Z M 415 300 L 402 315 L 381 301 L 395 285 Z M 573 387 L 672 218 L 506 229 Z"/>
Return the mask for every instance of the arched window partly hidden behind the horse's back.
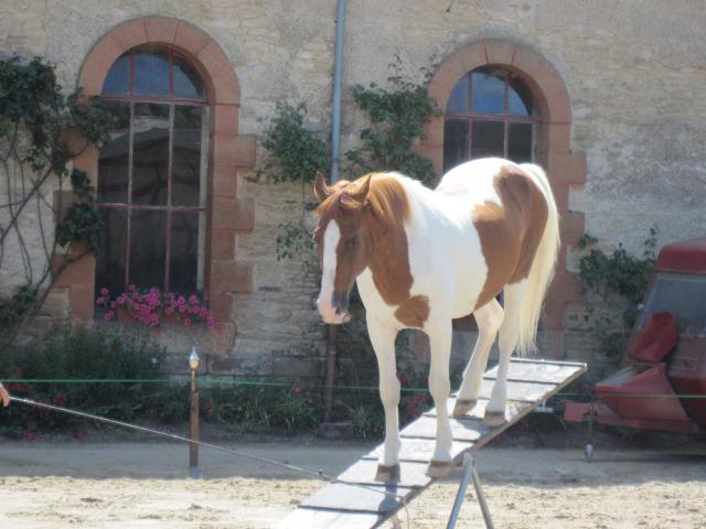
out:
<path id="1" fill-rule="evenodd" d="M 443 120 L 443 170 L 467 160 L 500 156 L 534 161 L 537 105 L 512 72 L 481 66 L 456 84 Z"/>

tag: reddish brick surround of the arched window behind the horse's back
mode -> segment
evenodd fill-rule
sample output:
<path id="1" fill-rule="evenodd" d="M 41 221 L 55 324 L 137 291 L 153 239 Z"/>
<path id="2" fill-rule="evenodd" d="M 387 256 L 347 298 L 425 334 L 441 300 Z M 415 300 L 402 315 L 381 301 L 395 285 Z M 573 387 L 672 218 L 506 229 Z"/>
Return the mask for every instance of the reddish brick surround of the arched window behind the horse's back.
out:
<path id="1" fill-rule="evenodd" d="M 561 217 L 561 250 L 557 272 L 545 304 L 544 331 L 554 333 L 546 346 L 547 356 L 563 354 L 561 330 L 565 306 L 580 302 L 578 278 L 566 270 L 567 247 L 584 234 L 584 215 L 570 212 L 570 186 L 586 183 L 586 156 L 571 152 L 571 102 L 561 76 L 549 61 L 537 52 L 514 42 L 486 39 L 464 45 L 445 58 L 429 84 L 429 95 L 439 108 L 447 106 L 456 83 L 469 72 L 486 65 L 512 71 L 532 90 L 539 107 L 539 152 L 537 162 L 545 168 L 552 182 Z M 443 117 L 434 118 L 425 127 L 425 140 L 419 151 L 428 156 L 441 174 L 443 164 Z"/>

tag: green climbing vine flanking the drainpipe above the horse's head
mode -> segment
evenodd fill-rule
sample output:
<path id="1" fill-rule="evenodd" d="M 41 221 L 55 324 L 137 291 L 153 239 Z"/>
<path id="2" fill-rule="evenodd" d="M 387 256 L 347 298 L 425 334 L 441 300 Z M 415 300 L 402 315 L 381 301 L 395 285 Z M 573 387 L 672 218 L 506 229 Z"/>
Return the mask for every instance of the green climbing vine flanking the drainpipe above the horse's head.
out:
<path id="1" fill-rule="evenodd" d="M 435 176 L 431 162 L 415 151 L 424 139 L 424 127 L 439 116 L 427 86 L 431 69 L 421 68 L 424 79 L 415 83 L 403 74 L 402 62 L 395 57 L 389 65 L 387 86 L 374 83 L 352 88 L 353 100 L 363 110 L 370 126 L 360 132 L 361 145 L 349 150 L 345 171 L 355 179 L 372 171 L 399 171 L 422 182 Z M 307 119 L 306 104 L 279 104 L 261 142 L 267 151 L 258 175 L 271 182 L 300 182 L 302 206 L 309 184 L 317 171 L 330 165 L 329 144 Z M 313 248 L 310 234 L 303 226 L 303 214 L 297 222 L 279 225 L 277 259 L 291 259 Z"/>

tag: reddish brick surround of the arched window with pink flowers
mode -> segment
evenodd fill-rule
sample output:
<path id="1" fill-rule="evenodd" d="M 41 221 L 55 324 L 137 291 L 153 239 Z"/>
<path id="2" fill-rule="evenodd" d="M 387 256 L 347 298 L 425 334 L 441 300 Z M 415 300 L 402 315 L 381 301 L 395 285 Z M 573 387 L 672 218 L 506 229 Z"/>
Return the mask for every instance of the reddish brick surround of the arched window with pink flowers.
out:
<path id="1" fill-rule="evenodd" d="M 108 31 L 90 50 L 77 85 L 86 96 L 100 95 L 105 77 L 125 52 L 142 45 L 170 47 L 184 55 L 199 71 L 210 108 L 208 241 L 206 283 L 214 315 L 226 324 L 232 319 L 233 298 L 253 288 L 249 263 L 235 259 L 235 239 L 254 227 L 254 199 L 237 194 L 238 173 L 255 163 L 255 138 L 238 133 L 239 88 L 231 63 L 211 35 L 179 19 L 147 17 L 124 22 Z M 75 166 L 97 183 L 97 150 L 86 150 Z M 94 315 L 93 256 L 74 263 L 56 282 L 68 290 L 72 320 Z M 228 333 L 226 333 L 228 334 Z M 227 344 L 224 346 L 227 348 Z"/>

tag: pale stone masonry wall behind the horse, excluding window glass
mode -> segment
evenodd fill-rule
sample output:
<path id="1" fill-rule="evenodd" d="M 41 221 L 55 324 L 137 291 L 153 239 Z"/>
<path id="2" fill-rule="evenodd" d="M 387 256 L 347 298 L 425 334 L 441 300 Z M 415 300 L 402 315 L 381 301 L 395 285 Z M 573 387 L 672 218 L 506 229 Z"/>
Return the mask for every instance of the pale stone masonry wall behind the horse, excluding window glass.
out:
<path id="1" fill-rule="evenodd" d="M 128 24 L 142 19 L 141 25 Z M 550 145 L 550 177 L 561 183 L 558 199 L 566 210 L 566 252 L 554 289 L 580 294 L 571 263 L 584 229 L 605 248 L 623 242 L 633 252 L 641 252 L 652 224 L 660 226 L 660 246 L 703 235 L 706 98 L 694 90 L 706 84 L 706 10 L 699 0 L 613 2 L 610 9 L 581 0 L 360 0 L 349 2 L 346 24 L 343 151 L 359 144 L 366 126 L 350 88 L 385 84 L 396 55 L 404 73 L 417 80 L 420 68 L 431 65 L 436 72 L 480 41 L 499 43 L 482 57 L 485 62 L 528 71 L 533 64 L 549 65 L 552 79 L 560 84 L 546 84 L 544 96 L 564 90 L 569 101 L 566 112 L 552 116 L 541 137 L 545 145 Z M 108 8 L 97 0 L 0 3 L 0 50 L 45 56 L 56 64 L 66 87 L 76 86 L 82 72 L 86 83 L 97 83 L 94 74 L 108 65 L 92 63 L 86 71 L 87 57 L 116 28 L 124 29 L 104 44 L 105 56 L 139 39 L 168 43 L 191 50 L 206 68 L 221 57 L 237 82 L 232 86 L 228 76 L 221 78 L 225 68 L 211 79 L 220 98 L 211 108 L 211 134 L 223 140 L 213 145 L 218 160 L 211 166 L 211 280 L 222 289 L 212 293 L 212 305 L 228 317 L 228 338 L 218 346 L 224 349 L 214 355 L 218 361 L 213 369 L 319 377 L 325 328 L 313 304 L 319 285 L 315 255 L 304 252 L 288 261 L 276 257 L 279 224 L 301 217 L 301 187 L 258 181 L 253 168 L 261 159 L 258 140 L 279 101 L 306 101 L 314 127 L 328 134 L 335 2 L 115 0 Z M 534 69 L 541 85 L 542 68 Z M 449 78 L 447 90 L 452 83 Z M 441 130 L 420 149 L 438 158 L 442 141 Z M 89 174 L 95 180 L 95 171 Z M 11 266 L 7 258 L 0 269 L 2 292 L 14 277 L 7 268 Z M 61 289 L 50 298 L 43 319 L 51 319 L 49 312 L 56 317 L 75 317 L 74 311 L 90 316 L 85 301 L 89 289 Z M 579 312 L 580 301 L 546 314 L 550 333 L 544 343 L 550 356 L 599 354 L 592 331 L 575 317 Z M 185 344 L 172 346 L 178 350 Z"/>

